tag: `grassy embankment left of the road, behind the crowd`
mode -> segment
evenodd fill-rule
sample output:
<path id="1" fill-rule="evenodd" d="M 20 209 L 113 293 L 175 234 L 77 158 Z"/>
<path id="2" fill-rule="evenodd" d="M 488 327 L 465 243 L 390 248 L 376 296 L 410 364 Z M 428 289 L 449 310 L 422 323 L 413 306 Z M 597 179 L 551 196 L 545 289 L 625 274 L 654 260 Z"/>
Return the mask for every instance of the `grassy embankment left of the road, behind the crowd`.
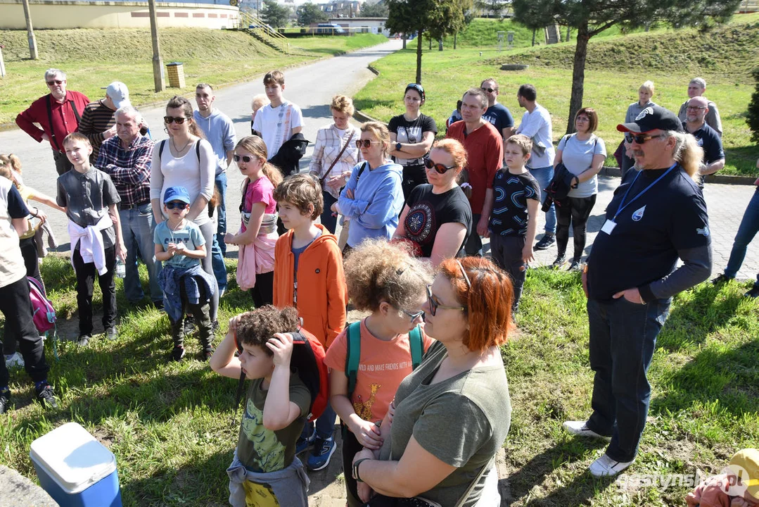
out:
<path id="1" fill-rule="evenodd" d="M 104 95 L 101 87 L 124 81 L 135 105 L 167 100 L 178 93 L 166 88 L 155 93 L 153 50 L 150 30 L 37 30 L 39 60 L 29 59 L 25 30 L 2 30 L 0 42 L 8 74 L 0 79 L 0 125 L 13 122 L 16 115 L 46 93 L 43 74 L 47 68 L 61 68 L 68 74 L 71 90 L 85 93 L 91 100 Z M 291 42 L 289 55 L 269 48 L 254 37 L 233 30 L 165 28 L 159 30 L 164 64 L 184 63 L 187 87 L 200 81 L 225 84 L 243 81 L 271 68 L 335 55 L 386 40 L 384 36 L 362 33 L 351 37 L 310 37 Z M 168 85 L 168 81 L 166 83 Z"/>

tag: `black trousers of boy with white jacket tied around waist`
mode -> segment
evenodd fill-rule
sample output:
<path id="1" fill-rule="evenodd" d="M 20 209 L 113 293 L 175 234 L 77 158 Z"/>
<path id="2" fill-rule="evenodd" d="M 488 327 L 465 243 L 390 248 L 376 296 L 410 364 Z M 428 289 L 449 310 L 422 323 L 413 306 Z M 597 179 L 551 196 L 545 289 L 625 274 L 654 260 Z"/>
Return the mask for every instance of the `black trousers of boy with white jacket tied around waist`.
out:
<path id="1" fill-rule="evenodd" d="M 115 246 L 106 249 L 106 268 L 108 271 L 105 274 L 97 274 L 94 262 L 85 264 L 79 249 L 74 250 L 71 259 L 74 261 L 74 271 L 77 273 L 79 334 L 92 334 L 93 332 L 93 285 L 96 275 L 102 292 L 102 326 L 106 329 L 112 328 L 116 325 Z"/>

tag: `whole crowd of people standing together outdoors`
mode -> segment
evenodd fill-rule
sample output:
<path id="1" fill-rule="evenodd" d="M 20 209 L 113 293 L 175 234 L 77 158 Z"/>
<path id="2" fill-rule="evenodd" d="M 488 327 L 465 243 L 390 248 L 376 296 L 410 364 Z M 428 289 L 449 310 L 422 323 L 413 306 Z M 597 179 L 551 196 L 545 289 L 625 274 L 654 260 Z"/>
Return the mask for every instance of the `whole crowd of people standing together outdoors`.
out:
<path id="1" fill-rule="evenodd" d="M 168 315 L 170 358 L 184 359 L 184 337 L 197 327 L 200 359 L 251 381 L 228 469 L 231 505 L 307 505 L 296 455 L 310 451 L 311 471 L 326 467 L 335 416 L 350 507 L 497 505 L 493 458 L 511 414 L 499 346 L 534 250 L 556 243 L 553 266 L 561 268 L 571 226 L 569 269 L 582 271 L 595 378 L 592 414 L 564 429 L 610 440 L 589 468 L 596 477 L 635 461 L 650 401 L 647 369 L 672 296 L 712 268 L 702 176 L 722 168 L 724 152 L 701 78 L 691 81 L 680 116 L 651 102 L 653 83 L 641 85 L 617 126 L 625 134 L 615 154 L 622 180 L 584 263 L 606 159 L 594 133 L 599 117 L 581 108 L 576 132 L 554 147 L 550 113 L 531 84 L 518 88 L 518 126 L 487 78 L 466 90 L 438 140 L 435 121 L 420 112 L 420 84 L 405 87 L 405 112 L 389 125 L 351 125 L 352 100 L 337 95 L 301 173 L 303 113 L 285 99 L 281 71 L 264 76 L 251 135 L 239 141 L 210 84 L 197 85 L 195 110 L 184 97 L 168 101 L 168 138 L 154 142 L 125 84 L 112 83 L 106 98 L 90 103 L 67 90 L 62 71 L 45 78 L 50 93 L 17 123 L 49 141 L 55 198 L 24 185 L 17 157 L 0 156 L 4 353 L 11 360 L 18 348 L 44 406 L 58 402 L 26 277 L 43 281 L 35 233 L 46 214 L 29 199 L 68 217 L 77 344 L 93 339 L 96 277 L 105 337 L 118 338 L 117 265 L 125 265 L 125 296 L 138 304 L 141 259 L 150 299 Z M 233 162 L 244 176 L 239 194 L 227 188 Z M 717 281 L 735 277 L 757 233 L 757 195 L 759 188 Z M 233 227 L 226 209 L 237 198 L 241 223 Z M 536 242 L 539 208 L 546 220 Z M 233 318 L 214 348 L 228 245 L 238 246 L 236 282 L 250 291 L 253 310 Z M 747 295 L 759 296 L 759 277 Z M 347 325 L 348 304 L 368 316 Z M 310 422 L 313 395 L 291 368 L 295 332 L 323 346 L 330 369 L 329 404 Z M 8 379 L 0 362 L 0 413 L 11 404 Z"/>

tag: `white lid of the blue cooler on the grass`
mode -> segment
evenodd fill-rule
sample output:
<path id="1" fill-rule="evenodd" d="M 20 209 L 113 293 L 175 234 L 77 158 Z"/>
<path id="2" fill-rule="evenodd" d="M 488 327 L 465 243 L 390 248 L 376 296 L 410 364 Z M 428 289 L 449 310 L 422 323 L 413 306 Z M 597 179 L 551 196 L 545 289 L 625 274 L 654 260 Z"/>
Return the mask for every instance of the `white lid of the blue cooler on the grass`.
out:
<path id="1" fill-rule="evenodd" d="M 80 493 L 116 470 L 113 453 L 77 423 L 40 436 L 29 455 L 68 493 Z"/>

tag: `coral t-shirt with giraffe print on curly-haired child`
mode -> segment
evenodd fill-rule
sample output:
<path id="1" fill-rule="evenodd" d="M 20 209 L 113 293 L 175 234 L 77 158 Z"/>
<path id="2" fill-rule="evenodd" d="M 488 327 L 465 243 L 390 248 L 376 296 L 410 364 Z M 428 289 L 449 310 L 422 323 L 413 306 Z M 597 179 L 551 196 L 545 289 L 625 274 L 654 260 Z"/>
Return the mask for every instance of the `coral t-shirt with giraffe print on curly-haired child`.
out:
<path id="1" fill-rule="evenodd" d="M 424 334 L 424 351 L 430 348 L 433 339 Z M 348 326 L 332 342 L 324 360 L 329 368 L 345 372 L 345 356 L 348 354 Z M 358 417 L 376 423 L 387 413 L 390 402 L 395 398 L 398 385 L 413 368 L 408 334 L 398 334 L 390 341 L 380 340 L 370 333 L 366 319 L 361 321 L 361 356 L 358 360 L 356 388 L 353 391 L 353 410 Z"/>

